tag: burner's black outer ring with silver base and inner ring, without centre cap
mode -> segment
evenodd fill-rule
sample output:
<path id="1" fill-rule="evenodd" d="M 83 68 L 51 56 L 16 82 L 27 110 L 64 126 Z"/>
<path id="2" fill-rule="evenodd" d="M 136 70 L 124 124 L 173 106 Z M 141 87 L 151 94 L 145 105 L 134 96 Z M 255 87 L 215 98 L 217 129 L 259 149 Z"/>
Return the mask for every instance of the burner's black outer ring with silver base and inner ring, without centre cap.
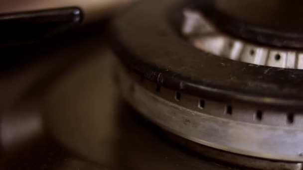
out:
<path id="1" fill-rule="evenodd" d="M 115 20 L 124 97 L 204 156 L 254 169 L 301 170 L 300 49 L 220 27 L 206 5 L 216 2 L 144 0 Z"/>

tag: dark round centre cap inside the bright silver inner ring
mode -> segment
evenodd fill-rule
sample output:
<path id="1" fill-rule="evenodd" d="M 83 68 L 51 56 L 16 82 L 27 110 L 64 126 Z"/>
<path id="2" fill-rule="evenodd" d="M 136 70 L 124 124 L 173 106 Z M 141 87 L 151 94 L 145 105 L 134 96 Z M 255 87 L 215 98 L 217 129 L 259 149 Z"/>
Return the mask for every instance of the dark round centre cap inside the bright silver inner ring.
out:
<path id="1" fill-rule="evenodd" d="M 203 12 L 223 32 L 270 46 L 303 47 L 301 0 L 213 0 L 210 6 Z"/>

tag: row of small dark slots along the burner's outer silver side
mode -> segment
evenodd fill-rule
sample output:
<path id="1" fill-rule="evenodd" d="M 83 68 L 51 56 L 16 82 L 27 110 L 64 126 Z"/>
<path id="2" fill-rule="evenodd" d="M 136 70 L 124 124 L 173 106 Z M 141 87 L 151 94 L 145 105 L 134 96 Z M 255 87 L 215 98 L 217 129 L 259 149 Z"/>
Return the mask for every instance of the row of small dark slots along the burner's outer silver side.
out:
<path id="1" fill-rule="evenodd" d="M 160 92 L 160 88 L 161 88 L 161 86 L 157 85 L 156 86 L 156 91 Z M 176 91 L 174 98 L 175 98 L 176 101 L 180 101 L 181 100 L 181 93 L 178 92 L 178 91 Z M 204 107 L 205 107 L 205 100 L 200 99 L 199 103 L 198 103 L 198 107 L 200 109 L 204 109 Z M 226 105 L 225 106 L 225 114 L 227 114 L 227 115 L 232 115 L 233 114 L 233 107 L 231 105 Z M 263 118 L 263 112 L 262 112 L 262 110 L 257 110 L 257 112 L 255 114 L 255 118 L 256 118 L 257 121 L 262 121 L 262 118 Z M 294 123 L 294 113 L 288 113 L 287 114 L 287 122 L 289 124 L 293 124 Z"/>

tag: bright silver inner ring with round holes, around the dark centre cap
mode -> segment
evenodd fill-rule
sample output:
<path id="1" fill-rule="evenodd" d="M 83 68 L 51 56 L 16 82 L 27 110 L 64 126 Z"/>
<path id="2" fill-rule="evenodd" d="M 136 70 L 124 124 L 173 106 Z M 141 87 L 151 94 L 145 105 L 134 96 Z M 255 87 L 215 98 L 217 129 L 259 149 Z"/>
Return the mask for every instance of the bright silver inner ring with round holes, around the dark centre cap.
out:
<path id="1" fill-rule="evenodd" d="M 221 33 L 194 10 L 184 11 L 183 34 L 193 45 L 214 55 L 250 64 L 303 69 L 303 51 L 259 45 Z"/>

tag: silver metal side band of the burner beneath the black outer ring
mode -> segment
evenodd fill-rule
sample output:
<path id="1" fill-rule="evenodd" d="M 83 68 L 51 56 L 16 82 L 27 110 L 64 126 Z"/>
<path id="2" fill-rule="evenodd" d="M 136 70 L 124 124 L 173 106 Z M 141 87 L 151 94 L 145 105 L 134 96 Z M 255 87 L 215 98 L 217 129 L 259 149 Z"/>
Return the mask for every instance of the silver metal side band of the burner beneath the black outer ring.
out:
<path id="1" fill-rule="evenodd" d="M 204 108 L 200 108 L 199 99 L 194 96 L 159 87 L 150 81 L 141 80 L 135 74 L 129 74 L 123 70 L 119 74 L 123 95 L 129 103 L 163 129 L 194 141 L 177 140 L 194 151 L 212 159 L 249 168 L 303 168 L 300 163 L 303 158 L 296 152 L 300 150 L 301 140 L 292 140 L 301 137 L 300 130 L 215 117 L 207 113 L 209 110 L 220 110 L 214 101 L 208 105 L 210 102 L 206 100 Z"/>

